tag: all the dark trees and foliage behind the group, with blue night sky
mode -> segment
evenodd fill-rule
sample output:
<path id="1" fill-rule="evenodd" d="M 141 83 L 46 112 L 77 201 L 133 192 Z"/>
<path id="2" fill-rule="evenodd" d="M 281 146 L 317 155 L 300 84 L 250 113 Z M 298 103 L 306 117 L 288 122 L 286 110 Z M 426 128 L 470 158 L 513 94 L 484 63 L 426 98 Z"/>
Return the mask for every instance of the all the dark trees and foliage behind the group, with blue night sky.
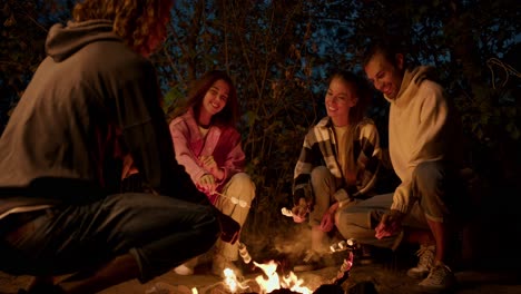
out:
<path id="1" fill-rule="evenodd" d="M 43 58 L 51 19 L 42 16 L 59 20 L 65 3 L 7 0 L 0 7 L 1 111 Z M 358 56 L 375 36 L 400 36 L 413 62 L 438 68 L 462 115 L 469 166 L 494 184 L 514 183 L 521 166 L 520 13 L 515 0 L 179 0 L 154 62 L 165 110 L 207 70 L 227 70 L 235 81 L 247 171 L 257 186 L 246 232 L 268 238 L 284 229 L 274 228 L 279 208 L 291 205 L 304 135 L 324 116 L 327 76 L 336 68 L 361 71 Z M 386 145 L 387 104 L 379 95 L 370 114 Z"/>

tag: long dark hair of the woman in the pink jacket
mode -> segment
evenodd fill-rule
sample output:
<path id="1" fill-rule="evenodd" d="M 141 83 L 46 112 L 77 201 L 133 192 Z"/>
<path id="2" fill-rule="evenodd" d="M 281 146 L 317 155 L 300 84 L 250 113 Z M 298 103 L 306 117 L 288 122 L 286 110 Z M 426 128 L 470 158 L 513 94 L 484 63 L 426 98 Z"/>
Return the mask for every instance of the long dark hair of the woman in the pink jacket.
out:
<path id="1" fill-rule="evenodd" d="M 193 81 L 188 91 L 187 100 L 179 108 L 175 109 L 170 117 L 178 117 L 191 108 L 194 109 L 194 117 L 197 119 L 199 117 L 199 109 L 203 105 L 206 92 L 217 80 L 224 80 L 226 84 L 228 84 L 229 92 L 228 99 L 226 100 L 226 106 L 223 108 L 223 110 L 212 117 L 210 124 L 235 127 L 238 117 L 237 90 L 235 89 L 230 77 L 222 70 L 208 71 L 199 79 Z"/>

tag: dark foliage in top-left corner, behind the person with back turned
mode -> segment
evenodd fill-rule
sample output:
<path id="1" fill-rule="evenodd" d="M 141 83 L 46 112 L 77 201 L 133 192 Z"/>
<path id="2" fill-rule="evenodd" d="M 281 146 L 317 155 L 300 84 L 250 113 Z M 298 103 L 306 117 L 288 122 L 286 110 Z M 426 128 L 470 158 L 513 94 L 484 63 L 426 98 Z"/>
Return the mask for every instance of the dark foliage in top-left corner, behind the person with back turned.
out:
<path id="1" fill-rule="evenodd" d="M 45 58 L 45 39 L 52 22 L 68 18 L 70 1 L 6 0 L 0 4 L 0 134 Z M 66 12 L 67 11 L 67 12 Z"/>

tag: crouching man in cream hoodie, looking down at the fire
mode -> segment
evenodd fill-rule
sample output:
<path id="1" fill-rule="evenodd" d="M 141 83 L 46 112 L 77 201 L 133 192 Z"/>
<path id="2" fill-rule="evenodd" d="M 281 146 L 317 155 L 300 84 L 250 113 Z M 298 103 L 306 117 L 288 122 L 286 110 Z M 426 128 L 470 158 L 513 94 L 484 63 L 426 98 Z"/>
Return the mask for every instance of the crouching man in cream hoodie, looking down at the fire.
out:
<path id="1" fill-rule="evenodd" d="M 433 68 L 409 67 L 391 41 L 368 47 L 364 69 L 391 104 L 390 157 L 401 184 L 392 195 L 341 212 L 341 231 L 391 248 L 402 239 L 419 244 L 419 264 L 407 274 L 422 278 L 422 287 L 451 288 L 455 283 L 448 264 L 451 220 L 464 196 L 459 118 Z"/>

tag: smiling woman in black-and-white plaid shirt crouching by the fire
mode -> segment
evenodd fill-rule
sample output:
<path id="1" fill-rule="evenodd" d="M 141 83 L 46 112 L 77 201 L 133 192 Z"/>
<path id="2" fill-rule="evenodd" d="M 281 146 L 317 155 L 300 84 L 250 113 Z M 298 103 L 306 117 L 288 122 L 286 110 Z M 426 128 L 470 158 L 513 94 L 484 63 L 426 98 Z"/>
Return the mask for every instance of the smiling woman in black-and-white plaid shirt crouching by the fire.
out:
<path id="1" fill-rule="evenodd" d="M 292 212 L 295 223 L 309 213 L 312 244 L 295 272 L 324 266 L 326 233 L 335 226 L 338 208 L 373 195 L 381 151 L 376 127 L 365 117 L 370 95 L 363 78 L 350 71 L 334 74 L 325 95 L 327 116 L 304 138 L 295 166 Z"/>

